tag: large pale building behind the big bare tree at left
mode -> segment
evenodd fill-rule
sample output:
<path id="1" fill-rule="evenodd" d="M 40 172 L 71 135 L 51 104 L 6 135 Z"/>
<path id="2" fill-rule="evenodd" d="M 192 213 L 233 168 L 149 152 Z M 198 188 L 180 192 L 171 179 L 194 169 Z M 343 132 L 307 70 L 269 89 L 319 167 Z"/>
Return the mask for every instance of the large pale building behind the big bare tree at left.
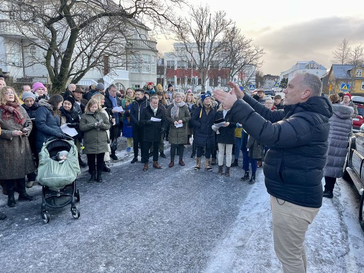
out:
<path id="1" fill-rule="evenodd" d="M 6 1 L 2 2 L 1 6 L 3 5 L 6 5 Z M 37 41 L 38 38 L 25 37 L 17 30 L 15 20 L 15 13 L 0 13 L 0 68 L 3 73 L 13 77 L 14 82 L 52 84 L 45 65 L 34 61 L 44 59 L 44 51 L 35 45 L 23 46 L 29 39 Z M 157 42 L 149 37 L 148 32 L 151 29 L 141 22 L 131 25 L 135 30 L 126 43 L 127 55 L 122 57 L 123 60 L 120 59 L 123 66 L 110 69 L 106 75 L 99 69 L 92 68 L 77 85 L 89 86 L 104 82 L 105 86 L 113 83 L 119 89 L 125 90 L 127 87 L 143 87 L 146 82 L 156 82 Z M 67 40 L 64 43 L 66 42 Z M 107 66 L 107 63 L 105 65 Z"/>

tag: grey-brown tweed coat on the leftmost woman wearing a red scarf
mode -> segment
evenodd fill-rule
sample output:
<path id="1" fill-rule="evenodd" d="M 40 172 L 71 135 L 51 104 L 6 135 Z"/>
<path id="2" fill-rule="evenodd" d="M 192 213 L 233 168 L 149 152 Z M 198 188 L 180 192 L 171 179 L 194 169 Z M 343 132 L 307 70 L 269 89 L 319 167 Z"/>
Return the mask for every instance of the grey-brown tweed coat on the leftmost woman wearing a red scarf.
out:
<path id="1" fill-rule="evenodd" d="M 35 171 L 35 164 L 28 136 L 33 129 L 32 120 L 27 111 L 19 107 L 21 115 L 25 118 L 23 124 L 14 121 L 14 115 L 10 119 L 2 118 L 3 112 L 0 109 L 0 179 L 20 179 Z M 29 132 L 23 136 L 13 136 L 12 131 L 21 130 L 27 127 Z"/>

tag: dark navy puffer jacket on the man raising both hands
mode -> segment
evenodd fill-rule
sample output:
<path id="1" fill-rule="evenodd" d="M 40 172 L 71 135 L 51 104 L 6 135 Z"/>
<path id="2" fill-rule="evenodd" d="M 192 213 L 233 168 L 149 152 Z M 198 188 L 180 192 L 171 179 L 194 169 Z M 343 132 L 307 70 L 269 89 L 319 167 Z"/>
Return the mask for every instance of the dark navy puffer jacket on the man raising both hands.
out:
<path id="1" fill-rule="evenodd" d="M 313 96 L 305 103 L 271 111 L 245 95 L 244 101 L 234 103 L 230 115 L 259 143 L 270 147 L 263 167 L 268 192 L 299 206 L 320 208 L 330 101 Z"/>

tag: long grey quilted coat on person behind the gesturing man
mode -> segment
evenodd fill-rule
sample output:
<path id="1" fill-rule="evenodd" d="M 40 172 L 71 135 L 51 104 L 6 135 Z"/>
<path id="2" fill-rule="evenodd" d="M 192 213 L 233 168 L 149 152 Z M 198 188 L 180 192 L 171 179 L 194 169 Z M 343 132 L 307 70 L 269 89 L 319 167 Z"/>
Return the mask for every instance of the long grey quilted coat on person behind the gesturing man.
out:
<path id="1" fill-rule="evenodd" d="M 333 104 L 333 115 L 329 119 L 329 147 L 326 154 L 324 177 L 343 177 L 349 133 L 352 128 L 352 107 Z"/>

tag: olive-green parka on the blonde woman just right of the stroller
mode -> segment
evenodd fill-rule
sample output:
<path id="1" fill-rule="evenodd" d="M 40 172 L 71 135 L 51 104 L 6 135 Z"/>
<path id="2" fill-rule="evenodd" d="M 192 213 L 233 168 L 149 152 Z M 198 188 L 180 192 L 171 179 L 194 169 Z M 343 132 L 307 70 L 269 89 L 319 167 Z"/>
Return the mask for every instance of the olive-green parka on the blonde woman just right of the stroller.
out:
<path id="1" fill-rule="evenodd" d="M 95 127 L 95 123 L 103 120 L 104 123 Z M 109 137 L 106 133 L 111 127 L 109 117 L 102 111 L 86 112 L 80 120 L 80 130 L 84 133 L 83 145 L 85 154 L 101 154 L 109 152 Z"/>

